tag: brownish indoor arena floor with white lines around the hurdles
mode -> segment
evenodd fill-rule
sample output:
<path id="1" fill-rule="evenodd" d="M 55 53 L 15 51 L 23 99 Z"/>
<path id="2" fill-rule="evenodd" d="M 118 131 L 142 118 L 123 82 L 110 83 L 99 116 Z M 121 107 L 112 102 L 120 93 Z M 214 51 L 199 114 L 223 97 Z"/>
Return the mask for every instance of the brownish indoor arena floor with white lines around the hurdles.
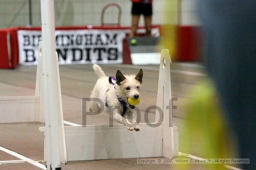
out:
<path id="1" fill-rule="evenodd" d="M 159 66 L 109 64 L 101 67 L 108 76 L 115 76 L 117 69 L 120 69 L 123 74 L 136 74 L 140 68 L 143 69 L 141 103 L 138 108 L 142 113 L 141 122 L 144 122 L 145 109 L 156 104 Z M 0 96 L 34 95 L 35 77 L 36 66 L 0 69 Z M 192 97 L 189 95 L 191 90 L 205 77 L 205 68 L 198 63 L 171 64 L 172 96 L 178 98 L 178 101 L 174 102 L 177 106 L 177 110 L 174 110 L 174 125 L 178 128 L 182 128 L 187 121 L 183 108 L 186 101 Z M 81 125 L 82 98 L 89 97 L 97 76 L 94 74 L 92 65 L 61 65 L 60 78 L 64 120 Z M 152 111 L 149 113 L 149 120 L 154 122 L 154 118 L 155 113 Z M 87 124 L 108 124 L 108 115 L 88 116 Z M 39 122 L 0 124 L 0 146 L 34 161 L 43 161 L 44 134 L 39 132 L 40 126 L 43 124 Z M 186 136 L 180 132 L 179 139 L 185 138 Z M 200 147 L 189 154 L 200 157 Z M 1 160 L 18 160 L 18 158 L 0 151 Z M 67 165 L 62 165 L 62 170 L 183 170 L 183 168 L 180 164 L 137 164 L 136 158 L 70 161 Z M 189 169 L 203 170 L 203 167 L 202 164 L 191 164 Z M 0 170 L 40 170 L 40 168 L 29 163 L 2 164 Z"/>

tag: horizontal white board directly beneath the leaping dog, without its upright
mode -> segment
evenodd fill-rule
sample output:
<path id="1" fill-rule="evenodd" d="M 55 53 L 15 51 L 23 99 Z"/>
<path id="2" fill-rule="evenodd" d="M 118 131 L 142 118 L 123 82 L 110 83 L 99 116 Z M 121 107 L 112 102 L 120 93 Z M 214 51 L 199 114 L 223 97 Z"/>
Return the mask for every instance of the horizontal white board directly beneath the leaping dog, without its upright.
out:
<path id="1" fill-rule="evenodd" d="M 122 124 L 65 126 L 67 161 L 115 159 L 129 157 L 162 157 L 163 126 L 129 131 Z M 40 131 L 44 132 L 44 127 Z M 178 131 L 174 128 L 175 155 L 178 155 Z"/>

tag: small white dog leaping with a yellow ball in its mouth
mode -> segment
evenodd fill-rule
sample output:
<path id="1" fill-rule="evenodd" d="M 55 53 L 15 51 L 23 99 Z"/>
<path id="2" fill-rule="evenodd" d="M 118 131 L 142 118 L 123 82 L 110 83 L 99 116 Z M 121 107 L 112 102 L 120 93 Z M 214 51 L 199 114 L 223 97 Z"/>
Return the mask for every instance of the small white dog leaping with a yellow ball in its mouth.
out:
<path id="1" fill-rule="evenodd" d="M 98 98 L 103 101 L 104 106 L 99 106 L 99 102 L 92 102 L 90 105 L 91 112 L 97 112 L 104 107 L 104 111 L 109 113 L 109 108 L 113 108 L 114 120 L 124 123 L 128 130 L 139 131 L 140 127 L 136 124 L 136 116 L 134 106 L 128 104 L 128 97 L 132 99 L 139 98 L 139 89 L 142 84 L 143 71 L 135 75 L 123 75 L 120 70 L 116 72 L 115 84 L 110 84 L 110 78 L 105 75 L 101 67 L 97 64 L 93 65 L 94 72 L 99 77 L 91 98 Z"/>

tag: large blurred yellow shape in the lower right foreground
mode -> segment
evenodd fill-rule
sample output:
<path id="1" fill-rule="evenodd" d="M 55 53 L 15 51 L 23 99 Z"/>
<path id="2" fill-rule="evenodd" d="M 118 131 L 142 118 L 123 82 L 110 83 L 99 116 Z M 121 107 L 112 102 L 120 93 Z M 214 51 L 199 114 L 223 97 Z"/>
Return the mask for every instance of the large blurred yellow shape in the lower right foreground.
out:
<path id="1" fill-rule="evenodd" d="M 234 158 L 235 145 L 228 131 L 225 115 L 219 104 L 214 84 L 206 79 L 191 90 L 186 105 L 184 134 L 189 140 L 181 140 L 182 152 L 200 151 L 202 158 Z M 186 167 L 187 166 L 187 167 Z M 185 168 L 186 167 L 186 168 Z M 188 169 L 185 165 L 184 169 Z M 226 170 L 223 164 L 204 164 L 205 170 Z"/>

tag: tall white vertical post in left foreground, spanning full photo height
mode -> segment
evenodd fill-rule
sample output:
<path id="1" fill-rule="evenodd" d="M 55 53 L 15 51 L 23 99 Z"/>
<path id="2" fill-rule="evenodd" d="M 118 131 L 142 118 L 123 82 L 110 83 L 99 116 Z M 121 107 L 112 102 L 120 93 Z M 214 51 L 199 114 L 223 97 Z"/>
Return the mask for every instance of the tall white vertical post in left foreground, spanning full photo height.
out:
<path id="1" fill-rule="evenodd" d="M 58 60 L 55 54 L 54 1 L 41 0 L 42 49 L 40 76 L 42 77 L 43 110 L 45 116 L 45 143 L 47 170 L 60 170 L 60 146 L 66 148 L 63 115 L 61 112 L 61 88 L 59 81 Z M 39 66 L 40 66 L 39 65 Z M 63 160 L 64 161 L 64 160 Z"/>

